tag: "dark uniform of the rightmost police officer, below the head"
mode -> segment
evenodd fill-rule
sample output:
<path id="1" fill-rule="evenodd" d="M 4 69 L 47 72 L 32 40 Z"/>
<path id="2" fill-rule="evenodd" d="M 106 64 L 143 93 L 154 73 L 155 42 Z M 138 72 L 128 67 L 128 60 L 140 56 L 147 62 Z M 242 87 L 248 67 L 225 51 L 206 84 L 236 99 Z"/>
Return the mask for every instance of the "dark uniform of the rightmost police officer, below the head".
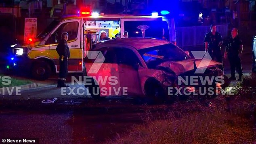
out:
<path id="1" fill-rule="evenodd" d="M 241 79 L 241 76 L 243 75 L 241 59 L 239 58 L 239 49 L 241 45 L 242 41 L 238 36 L 236 36 L 234 39 L 231 37 L 228 40 L 227 56 L 230 63 L 231 78 L 235 78 L 235 69 L 237 70 L 239 79 Z"/>

